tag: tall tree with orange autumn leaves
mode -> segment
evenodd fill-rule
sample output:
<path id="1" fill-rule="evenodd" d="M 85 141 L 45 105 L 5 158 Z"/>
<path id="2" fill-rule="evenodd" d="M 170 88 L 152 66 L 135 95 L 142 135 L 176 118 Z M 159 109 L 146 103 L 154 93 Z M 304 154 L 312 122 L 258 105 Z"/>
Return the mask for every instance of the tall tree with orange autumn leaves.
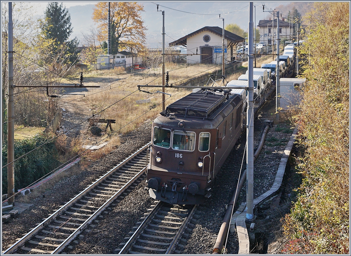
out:
<path id="1" fill-rule="evenodd" d="M 144 50 L 146 39 L 141 12 L 143 5 L 136 2 L 111 2 L 111 53 L 121 50 L 138 52 Z M 107 53 L 108 2 L 95 4 L 93 20 L 98 23 L 98 40 Z"/>

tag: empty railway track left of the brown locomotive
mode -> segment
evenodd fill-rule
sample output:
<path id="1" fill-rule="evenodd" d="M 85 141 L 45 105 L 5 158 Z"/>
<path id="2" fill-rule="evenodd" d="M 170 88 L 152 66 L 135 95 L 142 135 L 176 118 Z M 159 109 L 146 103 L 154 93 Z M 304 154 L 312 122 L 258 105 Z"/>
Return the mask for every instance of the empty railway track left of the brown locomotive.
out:
<path id="1" fill-rule="evenodd" d="M 120 162 L 20 238 L 4 254 L 57 254 L 144 173 L 150 143 Z"/>

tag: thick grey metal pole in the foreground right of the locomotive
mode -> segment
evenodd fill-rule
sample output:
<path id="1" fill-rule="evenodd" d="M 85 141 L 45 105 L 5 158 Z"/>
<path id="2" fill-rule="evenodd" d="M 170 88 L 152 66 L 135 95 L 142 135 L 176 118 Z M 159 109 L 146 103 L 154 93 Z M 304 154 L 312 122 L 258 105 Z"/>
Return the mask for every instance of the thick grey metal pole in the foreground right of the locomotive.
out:
<path id="1" fill-rule="evenodd" d="M 250 2 L 249 21 L 249 92 L 246 128 L 246 219 L 253 218 L 253 2 Z"/>

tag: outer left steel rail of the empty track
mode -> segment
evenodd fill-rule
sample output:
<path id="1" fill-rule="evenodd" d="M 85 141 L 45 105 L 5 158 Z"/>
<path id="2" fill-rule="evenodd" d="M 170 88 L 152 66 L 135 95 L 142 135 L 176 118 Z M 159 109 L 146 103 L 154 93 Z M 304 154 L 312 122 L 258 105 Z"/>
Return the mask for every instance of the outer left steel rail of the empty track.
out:
<path id="1" fill-rule="evenodd" d="M 49 217 L 47 217 L 44 221 L 42 221 L 40 224 L 38 224 L 37 227 L 33 228 L 29 233 L 27 233 L 24 237 L 22 237 L 20 240 L 18 240 L 16 243 L 14 243 L 11 247 L 9 247 L 7 250 L 5 250 L 3 252 L 3 254 L 9 254 L 11 252 L 13 252 L 14 250 L 18 249 L 22 244 L 24 244 L 29 238 L 31 238 L 34 234 L 38 233 L 38 231 L 47 226 L 49 222 L 51 222 L 53 219 L 55 219 L 57 216 L 59 216 L 62 212 L 64 212 L 66 209 L 68 209 L 70 206 L 72 206 L 75 202 L 77 202 L 82 196 L 84 196 L 85 194 L 87 194 L 88 192 L 91 191 L 91 189 L 93 189 L 96 185 L 98 185 L 102 180 L 106 179 L 108 176 L 110 176 L 112 173 L 114 173 L 119 167 L 123 166 L 124 164 L 126 164 L 126 162 L 128 162 L 129 160 L 131 160 L 132 158 L 134 158 L 136 155 L 138 155 L 140 152 L 142 152 L 143 150 L 145 150 L 149 145 L 151 144 L 151 142 L 147 143 L 146 145 L 144 145 L 143 147 L 139 148 L 138 151 L 134 152 L 132 155 L 130 155 L 129 157 L 127 157 L 125 160 L 123 160 L 122 162 L 120 162 L 117 166 L 113 167 L 109 172 L 107 172 L 105 175 L 103 175 L 101 178 L 99 178 L 98 180 L 96 180 L 95 182 L 93 182 L 90 186 L 88 186 L 86 189 L 84 189 L 82 192 L 80 192 L 79 194 L 77 194 L 76 196 L 74 196 L 74 198 L 72 198 L 70 201 L 68 201 L 65 205 L 63 205 L 60 209 L 56 210 L 52 215 L 50 215 Z M 145 171 L 145 169 L 143 169 L 143 171 Z M 132 180 L 134 179 L 134 177 L 132 178 Z M 129 182 L 128 182 L 129 183 Z M 127 185 L 127 184 L 126 184 Z M 124 186 L 125 187 L 125 186 Z M 124 188 L 122 187 L 122 188 Z M 121 188 L 121 189 L 122 189 Z M 117 192 L 118 193 L 118 192 Z M 101 208 L 101 207 L 100 207 Z M 99 209 L 100 209 L 99 208 Z M 98 210 L 99 210 L 98 209 Z M 79 228 L 78 228 L 79 229 Z M 62 248 L 63 249 L 63 248 Z"/>

